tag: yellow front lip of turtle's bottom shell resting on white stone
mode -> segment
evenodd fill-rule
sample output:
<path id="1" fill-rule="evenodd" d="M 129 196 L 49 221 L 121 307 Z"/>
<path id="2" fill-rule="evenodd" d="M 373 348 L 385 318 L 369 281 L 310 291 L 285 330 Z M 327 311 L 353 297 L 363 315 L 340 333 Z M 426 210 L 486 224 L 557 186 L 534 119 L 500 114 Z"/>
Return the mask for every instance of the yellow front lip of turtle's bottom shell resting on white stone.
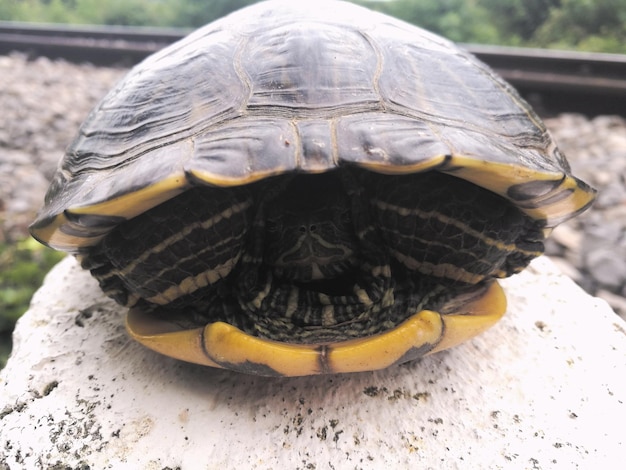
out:
<path id="1" fill-rule="evenodd" d="M 314 375 L 383 369 L 441 351 L 493 326 L 506 310 L 502 288 L 492 283 L 457 311 L 422 310 L 388 332 L 334 344 L 290 344 L 257 338 L 223 322 L 181 330 L 174 323 L 131 309 L 129 334 L 157 352 L 188 362 L 261 375 Z"/>

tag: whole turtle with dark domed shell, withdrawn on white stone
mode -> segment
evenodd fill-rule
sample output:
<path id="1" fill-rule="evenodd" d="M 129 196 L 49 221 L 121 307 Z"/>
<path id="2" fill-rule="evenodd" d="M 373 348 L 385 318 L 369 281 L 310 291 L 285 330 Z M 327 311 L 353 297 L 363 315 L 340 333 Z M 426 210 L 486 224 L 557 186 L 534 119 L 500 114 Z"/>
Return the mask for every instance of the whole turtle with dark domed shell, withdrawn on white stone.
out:
<path id="1" fill-rule="evenodd" d="M 167 356 L 267 376 L 377 370 L 506 311 L 497 282 L 595 190 L 452 42 L 340 1 L 266 1 L 136 65 L 30 227 Z"/>

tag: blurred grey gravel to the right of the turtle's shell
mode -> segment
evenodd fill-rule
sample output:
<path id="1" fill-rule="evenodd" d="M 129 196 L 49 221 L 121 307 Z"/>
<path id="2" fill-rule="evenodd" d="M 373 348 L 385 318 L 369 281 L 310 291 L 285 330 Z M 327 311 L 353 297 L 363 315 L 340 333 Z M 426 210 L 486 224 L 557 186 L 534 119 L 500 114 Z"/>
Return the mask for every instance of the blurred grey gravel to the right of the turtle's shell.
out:
<path id="1" fill-rule="evenodd" d="M 589 211 L 554 230 L 546 253 L 626 318 L 626 120 L 563 114 L 545 123 L 574 174 L 598 189 Z"/>

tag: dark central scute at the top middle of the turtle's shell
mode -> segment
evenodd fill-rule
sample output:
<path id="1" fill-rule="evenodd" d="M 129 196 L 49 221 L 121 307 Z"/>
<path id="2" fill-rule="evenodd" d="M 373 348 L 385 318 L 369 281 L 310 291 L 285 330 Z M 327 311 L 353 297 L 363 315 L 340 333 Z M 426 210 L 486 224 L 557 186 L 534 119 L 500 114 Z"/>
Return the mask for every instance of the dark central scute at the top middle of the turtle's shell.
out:
<path id="1" fill-rule="evenodd" d="M 270 28 L 250 39 L 240 61 L 249 77 L 250 108 L 300 113 L 380 101 L 373 88 L 377 57 L 358 30 L 345 25 Z"/>

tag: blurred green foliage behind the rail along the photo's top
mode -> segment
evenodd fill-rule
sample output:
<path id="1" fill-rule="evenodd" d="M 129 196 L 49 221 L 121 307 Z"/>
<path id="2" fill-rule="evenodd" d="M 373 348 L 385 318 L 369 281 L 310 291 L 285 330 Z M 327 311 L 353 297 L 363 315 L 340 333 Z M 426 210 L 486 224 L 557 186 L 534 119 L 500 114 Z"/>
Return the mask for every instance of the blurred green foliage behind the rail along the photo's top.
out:
<path id="1" fill-rule="evenodd" d="M 354 1 L 457 42 L 626 52 L 626 0 Z M 0 20 L 194 28 L 252 3 L 0 0 Z"/>

